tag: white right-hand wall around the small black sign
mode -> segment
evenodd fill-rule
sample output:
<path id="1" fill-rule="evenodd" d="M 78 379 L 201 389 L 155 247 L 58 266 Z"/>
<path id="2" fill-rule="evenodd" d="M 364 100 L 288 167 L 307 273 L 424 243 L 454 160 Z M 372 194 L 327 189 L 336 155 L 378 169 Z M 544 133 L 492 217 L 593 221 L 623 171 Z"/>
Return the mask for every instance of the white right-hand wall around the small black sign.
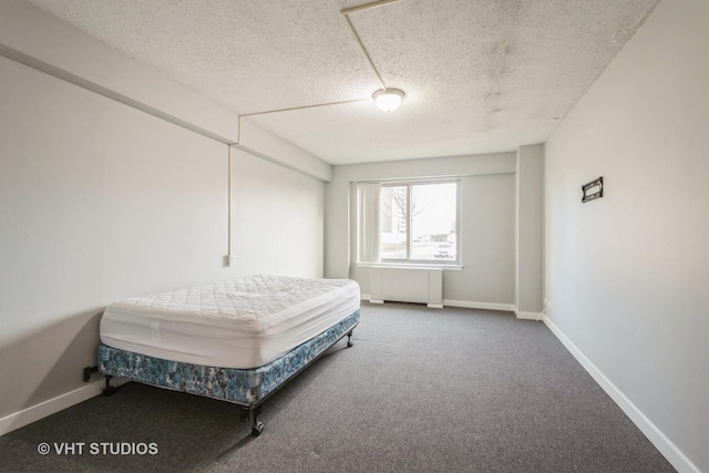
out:
<path id="1" fill-rule="evenodd" d="M 660 2 L 545 156 L 551 327 L 680 471 L 709 471 L 707 25 Z"/>

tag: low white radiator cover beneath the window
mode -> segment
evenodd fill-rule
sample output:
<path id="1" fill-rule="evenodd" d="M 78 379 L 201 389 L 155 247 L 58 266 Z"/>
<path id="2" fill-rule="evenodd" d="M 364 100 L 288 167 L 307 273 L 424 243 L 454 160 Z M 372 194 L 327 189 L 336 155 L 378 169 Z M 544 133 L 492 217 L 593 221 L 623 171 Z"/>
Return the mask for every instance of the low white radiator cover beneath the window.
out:
<path id="1" fill-rule="evenodd" d="M 443 307 L 443 269 L 441 268 L 370 268 L 369 301 L 420 302 Z"/>

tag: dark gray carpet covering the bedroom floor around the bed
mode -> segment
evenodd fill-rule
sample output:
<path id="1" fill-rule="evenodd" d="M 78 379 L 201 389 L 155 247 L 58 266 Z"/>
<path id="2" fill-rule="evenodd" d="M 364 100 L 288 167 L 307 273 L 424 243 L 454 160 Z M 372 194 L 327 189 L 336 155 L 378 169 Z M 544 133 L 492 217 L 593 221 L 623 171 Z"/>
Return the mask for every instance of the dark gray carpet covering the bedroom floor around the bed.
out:
<path id="1" fill-rule="evenodd" d="M 233 404 L 130 383 L 0 438 L 0 471 L 675 471 L 541 322 L 399 304 L 361 315 L 354 347 L 264 404 L 259 438 Z M 40 455 L 42 442 L 86 445 Z"/>

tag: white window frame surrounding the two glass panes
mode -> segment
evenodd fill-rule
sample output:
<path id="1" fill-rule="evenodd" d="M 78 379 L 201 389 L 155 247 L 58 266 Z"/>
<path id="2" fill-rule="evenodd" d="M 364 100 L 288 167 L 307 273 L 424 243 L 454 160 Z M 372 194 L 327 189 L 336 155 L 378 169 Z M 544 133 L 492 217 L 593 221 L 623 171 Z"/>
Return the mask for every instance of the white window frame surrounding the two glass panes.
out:
<path id="1" fill-rule="evenodd" d="M 460 177 L 442 177 L 442 178 L 427 178 L 427 179 L 405 179 L 405 181 L 382 181 L 379 182 L 381 188 L 384 187 L 407 187 L 407 258 L 405 259 L 397 259 L 397 258 L 382 258 L 379 256 L 378 264 L 380 265 L 389 265 L 389 266 L 435 266 L 435 267 L 462 267 L 462 223 L 461 223 L 461 178 Z M 412 205 L 412 187 L 413 186 L 424 186 L 424 185 L 433 185 L 433 184 L 455 184 L 455 259 L 449 260 L 436 260 L 436 259 L 413 259 L 411 257 L 411 250 L 413 245 L 413 235 L 412 235 L 412 216 L 411 216 L 411 205 Z M 379 208 L 381 212 L 381 202 L 379 203 Z M 379 217 L 381 218 L 381 217 Z M 381 222 L 379 222 L 379 232 L 381 234 Z M 374 264 L 377 265 L 377 264 Z"/>

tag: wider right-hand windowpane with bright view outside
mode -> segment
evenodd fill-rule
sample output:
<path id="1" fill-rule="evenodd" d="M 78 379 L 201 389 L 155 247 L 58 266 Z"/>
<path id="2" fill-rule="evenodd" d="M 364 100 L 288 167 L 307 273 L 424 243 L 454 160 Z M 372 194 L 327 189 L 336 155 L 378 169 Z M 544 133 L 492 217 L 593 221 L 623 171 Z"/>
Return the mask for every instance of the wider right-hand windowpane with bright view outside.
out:
<path id="1" fill-rule="evenodd" d="M 456 260 L 456 194 L 455 183 L 411 186 L 411 259 Z"/>

